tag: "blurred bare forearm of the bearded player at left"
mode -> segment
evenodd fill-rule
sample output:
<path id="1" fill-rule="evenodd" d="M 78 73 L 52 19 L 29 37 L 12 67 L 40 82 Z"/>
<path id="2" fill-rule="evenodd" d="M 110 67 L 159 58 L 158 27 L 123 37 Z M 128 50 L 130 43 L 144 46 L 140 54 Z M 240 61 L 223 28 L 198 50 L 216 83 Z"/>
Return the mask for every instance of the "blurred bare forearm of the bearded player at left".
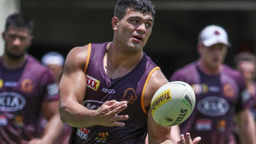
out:
<path id="1" fill-rule="evenodd" d="M 53 144 L 58 138 L 62 131 L 63 123 L 60 120 L 59 113 L 52 116 L 45 126 L 42 139 L 47 142 L 47 144 Z"/>

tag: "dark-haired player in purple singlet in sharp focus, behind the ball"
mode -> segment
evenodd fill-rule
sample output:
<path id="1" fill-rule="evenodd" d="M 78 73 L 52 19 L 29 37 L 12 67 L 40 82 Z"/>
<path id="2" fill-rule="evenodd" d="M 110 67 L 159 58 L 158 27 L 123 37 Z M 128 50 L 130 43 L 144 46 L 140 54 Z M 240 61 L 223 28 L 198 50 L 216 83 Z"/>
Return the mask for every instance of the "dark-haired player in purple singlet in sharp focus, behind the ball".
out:
<path id="1" fill-rule="evenodd" d="M 171 127 L 154 122 L 151 99 L 168 83 L 143 52 L 154 24 L 150 0 L 119 0 L 111 25 L 113 41 L 72 49 L 59 85 L 61 120 L 73 130 L 70 143 L 173 143 Z M 192 142 L 189 133 L 178 144 Z M 176 144 L 176 142 L 175 142 Z"/>

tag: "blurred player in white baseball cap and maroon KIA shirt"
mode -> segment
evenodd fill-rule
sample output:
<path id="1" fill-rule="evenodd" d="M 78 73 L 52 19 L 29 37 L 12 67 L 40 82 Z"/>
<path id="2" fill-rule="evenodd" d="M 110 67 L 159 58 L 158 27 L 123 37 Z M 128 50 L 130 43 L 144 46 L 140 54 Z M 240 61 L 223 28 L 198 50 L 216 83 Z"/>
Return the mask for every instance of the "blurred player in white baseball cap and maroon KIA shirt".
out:
<path id="1" fill-rule="evenodd" d="M 228 46 L 223 28 L 207 26 L 198 37 L 198 61 L 177 70 L 171 77 L 170 81 L 190 84 L 197 99 L 193 113 L 180 124 L 181 133 L 200 135 L 203 144 L 234 144 L 232 122 L 236 116 L 243 142 L 255 144 L 254 121 L 243 77 L 223 64 Z"/>

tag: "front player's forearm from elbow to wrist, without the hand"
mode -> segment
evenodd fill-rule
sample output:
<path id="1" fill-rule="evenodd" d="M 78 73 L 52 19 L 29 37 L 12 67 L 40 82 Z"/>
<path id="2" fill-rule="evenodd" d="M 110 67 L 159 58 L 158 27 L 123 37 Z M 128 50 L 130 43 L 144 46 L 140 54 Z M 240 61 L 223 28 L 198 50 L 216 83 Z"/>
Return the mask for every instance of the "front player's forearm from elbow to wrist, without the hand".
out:
<path id="1" fill-rule="evenodd" d="M 89 110 L 77 102 L 68 102 L 59 108 L 61 121 L 73 127 L 94 126 L 94 112 L 95 110 Z"/>

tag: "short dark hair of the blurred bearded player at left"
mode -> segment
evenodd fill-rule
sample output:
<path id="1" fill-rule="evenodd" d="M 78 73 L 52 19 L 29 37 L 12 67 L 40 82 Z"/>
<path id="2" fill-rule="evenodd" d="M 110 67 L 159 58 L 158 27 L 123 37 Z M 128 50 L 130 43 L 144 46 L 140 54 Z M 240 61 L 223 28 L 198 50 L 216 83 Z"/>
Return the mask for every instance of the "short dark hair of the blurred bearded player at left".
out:
<path id="1" fill-rule="evenodd" d="M 22 13 L 14 13 L 12 15 L 9 15 L 9 17 L 7 17 L 5 30 L 7 31 L 7 29 L 11 25 L 19 28 L 28 28 L 30 34 L 33 33 L 33 28 L 34 28 L 33 20 Z"/>

